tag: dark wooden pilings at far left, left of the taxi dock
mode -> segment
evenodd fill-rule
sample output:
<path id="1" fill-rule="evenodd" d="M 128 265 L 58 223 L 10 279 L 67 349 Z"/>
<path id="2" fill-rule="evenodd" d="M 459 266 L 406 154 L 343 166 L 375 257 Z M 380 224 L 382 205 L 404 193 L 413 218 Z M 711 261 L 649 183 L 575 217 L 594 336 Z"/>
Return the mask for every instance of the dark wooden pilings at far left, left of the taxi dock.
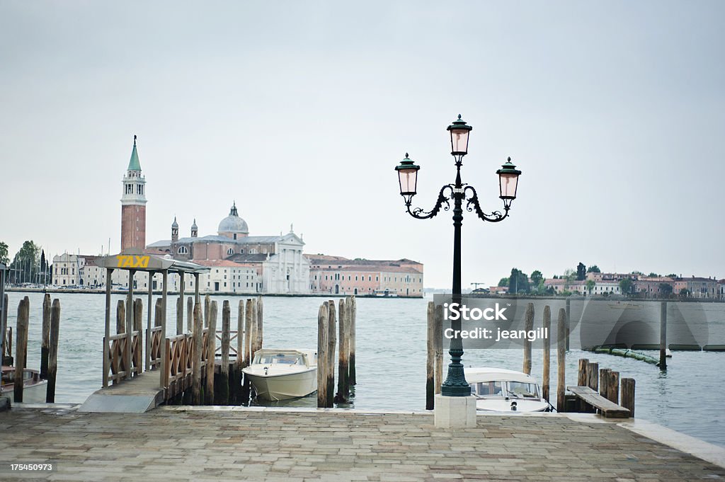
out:
<path id="1" fill-rule="evenodd" d="M 8 297 L 4 295 L 2 326 L 7 326 L 2 353 L 2 365 L 14 365 L 14 380 L 20 383 L 13 385 L 13 401 L 22 403 L 24 386 L 22 372 L 28 367 L 28 323 L 30 319 L 30 299 L 25 296 L 17 305 L 15 326 L 15 357 L 12 356 L 12 327 L 7 325 Z M 55 402 L 55 386 L 58 373 L 58 342 L 60 329 L 60 300 L 54 299 L 51 304 L 50 295 L 43 296 L 43 325 L 41 335 L 41 366 L 39 376 L 47 380 L 46 403 Z"/>

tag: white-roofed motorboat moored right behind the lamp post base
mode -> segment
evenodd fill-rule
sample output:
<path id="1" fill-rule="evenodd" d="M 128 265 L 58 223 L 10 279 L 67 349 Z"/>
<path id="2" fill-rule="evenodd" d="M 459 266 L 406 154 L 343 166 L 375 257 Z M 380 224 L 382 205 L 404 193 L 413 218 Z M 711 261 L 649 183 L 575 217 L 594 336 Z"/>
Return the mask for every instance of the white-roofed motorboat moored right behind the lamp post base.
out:
<path id="1" fill-rule="evenodd" d="M 476 410 L 485 412 L 546 412 L 539 383 L 531 375 L 505 368 L 467 368 L 465 378 L 476 396 Z"/>

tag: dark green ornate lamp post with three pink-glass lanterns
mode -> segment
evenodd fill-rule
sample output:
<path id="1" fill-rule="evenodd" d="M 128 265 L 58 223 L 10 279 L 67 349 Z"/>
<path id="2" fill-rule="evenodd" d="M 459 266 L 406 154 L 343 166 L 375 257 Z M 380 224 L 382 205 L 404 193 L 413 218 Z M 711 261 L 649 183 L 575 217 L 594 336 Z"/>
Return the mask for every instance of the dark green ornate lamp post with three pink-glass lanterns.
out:
<path id="1" fill-rule="evenodd" d="M 455 183 L 445 184 L 438 194 L 436 205 L 431 211 L 423 211 L 420 207 L 411 208 L 413 196 L 416 194 L 418 184 L 418 170 L 420 166 L 415 165 L 413 160 L 405 154 L 405 159 L 400 165 L 395 167 L 398 172 L 398 181 L 400 184 L 400 195 L 405 200 L 405 207 L 409 215 L 416 219 L 428 219 L 437 215 L 441 208 L 444 211 L 450 209 L 450 201 L 453 201 L 453 289 L 452 302 L 461 302 L 461 283 L 460 283 L 460 227 L 463 223 L 463 202 L 465 201 L 465 209 L 468 212 L 476 212 L 476 215 L 483 221 L 489 223 L 499 223 L 508 217 L 508 211 L 511 202 L 516 199 L 516 188 L 518 186 L 518 176 L 521 171 L 511 164 L 511 158 L 505 162 L 502 167 L 496 171 L 499 176 L 499 197 L 503 201 L 504 212 L 494 211 L 486 214 L 481 210 L 479 205 L 479 196 L 473 186 L 463 183 L 460 178 L 460 168 L 463 165 L 463 156 L 468 154 L 468 136 L 473 128 L 461 120 L 460 115 L 454 120 L 447 130 L 451 136 L 451 155 L 455 159 L 456 176 Z M 451 328 L 460 331 L 460 319 L 452 320 Z M 471 386 L 465 381 L 463 373 L 463 364 L 460 362 L 463 357 L 463 341 L 461 338 L 453 337 L 450 341 L 449 352 L 451 357 L 450 365 L 448 365 L 448 374 L 446 380 L 441 385 L 441 394 L 444 396 L 468 396 L 471 395 Z"/>

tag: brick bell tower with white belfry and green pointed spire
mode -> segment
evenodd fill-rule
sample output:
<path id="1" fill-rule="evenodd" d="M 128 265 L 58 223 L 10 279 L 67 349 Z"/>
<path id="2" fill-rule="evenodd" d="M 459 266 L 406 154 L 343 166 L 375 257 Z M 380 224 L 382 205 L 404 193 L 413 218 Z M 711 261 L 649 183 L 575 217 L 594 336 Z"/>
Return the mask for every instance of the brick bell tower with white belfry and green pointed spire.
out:
<path id="1" fill-rule="evenodd" d="M 136 136 L 128 170 L 123 177 L 121 197 L 121 251 L 143 250 L 146 247 L 146 179 L 141 175 L 141 163 L 136 152 Z"/>

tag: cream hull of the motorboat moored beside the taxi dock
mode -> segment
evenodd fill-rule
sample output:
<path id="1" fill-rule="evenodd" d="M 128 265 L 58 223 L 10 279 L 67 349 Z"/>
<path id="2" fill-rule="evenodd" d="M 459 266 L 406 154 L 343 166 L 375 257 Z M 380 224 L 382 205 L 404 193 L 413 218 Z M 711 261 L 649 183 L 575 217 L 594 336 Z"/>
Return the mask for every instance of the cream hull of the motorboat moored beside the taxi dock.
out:
<path id="1" fill-rule="evenodd" d="M 242 371 L 249 377 L 257 397 L 270 402 L 307 396 L 317 390 L 317 367 L 269 375 L 250 368 Z"/>

